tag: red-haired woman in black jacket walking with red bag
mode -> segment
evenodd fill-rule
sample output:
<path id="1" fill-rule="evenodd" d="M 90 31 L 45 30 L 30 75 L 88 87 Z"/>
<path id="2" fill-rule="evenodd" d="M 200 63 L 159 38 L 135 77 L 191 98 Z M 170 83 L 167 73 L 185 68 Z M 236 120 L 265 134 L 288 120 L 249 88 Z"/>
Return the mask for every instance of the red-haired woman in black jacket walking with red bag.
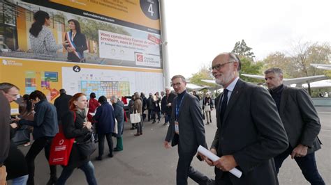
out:
<path id="1" fill-rule="evenodd" d="M 71 149 L 68 166 L 64 166 L 57 184 L 66 184 L 66 180 L 71 176 L 75 168 L 80 168 L 87 178 L 88 184 L 97 184 L 94 175 L 94 166 L 89 156 L 84 158 L 80 154 L 77 143 L 83 143 L 84 138 L 91 132 L 91 122 L 87 122 L 85 108 L 87 108 L 87 97 L 83 93 L 73 95 L 69 101 L 69 109 L 62 117 L 62 127 L 66 138 L 75 138 Z"/>

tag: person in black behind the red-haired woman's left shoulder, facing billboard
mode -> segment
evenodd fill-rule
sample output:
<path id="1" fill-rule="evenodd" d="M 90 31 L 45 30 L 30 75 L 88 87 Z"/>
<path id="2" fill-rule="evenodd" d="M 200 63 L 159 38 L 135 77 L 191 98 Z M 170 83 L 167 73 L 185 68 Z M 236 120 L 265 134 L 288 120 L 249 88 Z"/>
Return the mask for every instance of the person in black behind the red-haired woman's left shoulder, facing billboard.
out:
<path id="1" fill-rule="evenodd" d="M 60 89 L 60 96 L 57 97 L 54 101 L 54 106 L 57 108 L 57 120 L 59 124 L 61 124 L 61 118 L 64 113 L 69 111 L 69 100 L 71 99 L 71 95 L 66 94 L 66 90 L 63 88 Z"/>

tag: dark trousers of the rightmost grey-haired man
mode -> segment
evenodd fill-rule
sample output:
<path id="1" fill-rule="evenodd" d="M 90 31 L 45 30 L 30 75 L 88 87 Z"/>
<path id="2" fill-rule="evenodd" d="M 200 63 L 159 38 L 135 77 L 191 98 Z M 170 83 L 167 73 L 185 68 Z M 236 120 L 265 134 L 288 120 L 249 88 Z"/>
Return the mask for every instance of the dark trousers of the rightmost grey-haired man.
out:
<path id="1" fill-rule="evenodd" d="M 293 147 L 289 146 L 288 149 L 274 157 L 274 163 L 276 166 L 277 174 L 279 172 L 279 168 L 281 168 L 281 164 L 283 161 L 292 153 Z M 307 179 L 308 182 L 312 185 L 325 184 L 323 178 L 318 173 L 315 159 L 315 152 L 311 154 L 307 154 L 307 156 L 302 157 L 294 157 L 297 165 L 300 167 L 304 178 Z"/>

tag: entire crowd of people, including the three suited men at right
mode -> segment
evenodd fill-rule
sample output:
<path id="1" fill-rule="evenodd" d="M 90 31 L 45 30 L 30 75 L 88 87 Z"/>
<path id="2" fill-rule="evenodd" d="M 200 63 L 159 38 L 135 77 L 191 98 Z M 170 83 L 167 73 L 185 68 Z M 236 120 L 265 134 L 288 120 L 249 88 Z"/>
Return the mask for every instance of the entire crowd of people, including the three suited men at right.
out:
<path id="1" fill-rule="evenodd" d="M 103 160 L 104 140 L 109 148 L 108 157 L 124 150 L 123 131 L 128 104 L 131 129 L 134 136 L 142 136 L 144 121 L 151 124 L 168 124 L 164 147 L 177 145 L 177 184 L 187 184 L 191 177 L 198 184 L 279 184 L 277 174 L 283 161 L 291 156 L 311 184 L 325 184 L 316 166 L 315 152 L 321 149 L 318 133 L 321 130 L 316 109 L 305 90 L 283 84 L 283 72 L 277 67 L 265 70 L 268 90 L 240 79 L 240 59 L 232 53 L 219 54 L 212 62 L 212 74 L 216 83 L 223 86 L 221 95 L 213 101 L 207 93 L 201 100 L 196 93 L 186 90 L 182 75 L 172 77 L 172 87 L 165 93 L 134 93 L 129 102 L 122 97 L 101 96 L 91 93 L 89 99 L 83 93 L 61 95 L 54 105 L 45 94 L 35 90 L 24 95 L 11 83 L 0 83 L 0 184 L 12 180 L 13 184 L 34 184 L 36 156 L 45 151 L 47 161 L 54 136 L 63 131 L 66 138 L 74 138 L 68 165 L 63 166 L 57 177 L 57 166 L 50 165 L 47 184 L 65 184 L 75 168 L 82 170 L 88 184 L 97 184 L 91 152 L 85 151 L 84 143 L 98 138 L 98 156 Z M 20 115 L 10 120 L 10 102 L 20 104 Z M 216 110 L 214 140 L 210 147 L 205 140 L 205 124 L 212 123 L 211 111 Z M 286 111 L 285 111 L 286 110 Z M 204 115 L 206 123 L 204 123 Z M 27 125 L 34 142 L 24 154 L 10 138 L 15 130 Z M 112 136 L 117 138 L 114 145 Z M 199 145 L 209 149 L 218 160 L 212 161 L 198 152 Z M 114 147 L 115 146 L 115 147 Z M 193 157 L 214 166 L 215 179 L 198 172 L 191 166 Z M 237 178 L 230 170 L 237 168 L 242 177 Z M 37 175 L 38 176 L 38 175 Z"/>

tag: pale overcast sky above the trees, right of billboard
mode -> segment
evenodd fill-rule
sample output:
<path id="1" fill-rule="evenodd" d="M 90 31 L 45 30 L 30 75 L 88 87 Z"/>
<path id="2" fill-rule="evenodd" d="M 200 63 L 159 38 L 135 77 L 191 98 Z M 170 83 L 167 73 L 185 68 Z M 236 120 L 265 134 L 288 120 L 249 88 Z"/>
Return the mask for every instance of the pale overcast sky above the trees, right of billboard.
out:
<path id="1" fill-rule="evenodd" d="M 331 43 L 330 0 L 163 0 L 170 77 L 191 77 L 245 40 L 262 60 L 298 42 Z"/>

